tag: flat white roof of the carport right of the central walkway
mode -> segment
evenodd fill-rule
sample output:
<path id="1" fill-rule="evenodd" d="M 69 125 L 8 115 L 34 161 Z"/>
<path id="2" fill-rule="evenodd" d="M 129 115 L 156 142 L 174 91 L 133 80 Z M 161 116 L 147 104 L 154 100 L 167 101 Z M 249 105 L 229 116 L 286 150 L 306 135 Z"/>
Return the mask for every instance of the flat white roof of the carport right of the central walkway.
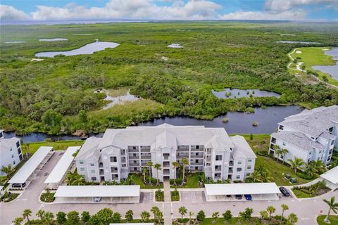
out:
<path id="1" fill-rule="evenodd" d="M 206 184 L 206 195 L 278 194 L 275 183 Z"/>

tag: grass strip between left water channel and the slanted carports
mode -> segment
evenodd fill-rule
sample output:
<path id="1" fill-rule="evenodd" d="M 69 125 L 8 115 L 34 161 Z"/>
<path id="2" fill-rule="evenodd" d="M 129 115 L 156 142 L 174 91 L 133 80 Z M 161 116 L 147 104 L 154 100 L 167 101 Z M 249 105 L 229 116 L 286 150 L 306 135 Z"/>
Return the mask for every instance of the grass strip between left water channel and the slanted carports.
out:
<path id="1" fill-rule="evenodd" d="M 66 150 L 69 146 L 82 146 L 83 143 L 82 140 L 23 143 L 23 153 L 35 153 L 41 146 L 53 146 L 54 150 Z"/>

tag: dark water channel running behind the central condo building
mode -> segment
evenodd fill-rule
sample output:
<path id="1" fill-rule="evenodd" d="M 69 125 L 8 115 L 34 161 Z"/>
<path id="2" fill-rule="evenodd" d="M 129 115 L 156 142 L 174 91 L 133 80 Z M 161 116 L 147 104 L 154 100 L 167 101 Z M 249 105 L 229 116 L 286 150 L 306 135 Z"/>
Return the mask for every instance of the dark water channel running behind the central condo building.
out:
<path id="1" fill-rule="evenodd" d="M 298 106 L 271 106 L 266 109 L 255 108 L 255 113 L 227 113 L 215 117 L 213 120 L 197 120 L 191 117 L 163 117 L 149 122 L 137 124 L 137 126 L 157 126 L 159 124 L 168 123 L 175 126 L 199 125 L 205 127 L 224 127 L 228 134 L 271 134 L 277 129 L 277 123 L 284 120 L 284 117 L 301 113 L 303 108 Z M 229 122 L 223 123 L 223 118 L 229 118 Z M 252 123 L 258 122 L 257 127 L 253 127 Z M 104 133 L 90 134 L 89 136 L 101 137 Z M 5 137 L 16 136 L 14 132 L 4 132 Z M 47 135 L 42 133 L 31 133 L 25 136 L 18 136 L 24 143 L 44 141 L 46 138 L 52 140 L 79 140 L 79 136 L 72 135 Z"/>

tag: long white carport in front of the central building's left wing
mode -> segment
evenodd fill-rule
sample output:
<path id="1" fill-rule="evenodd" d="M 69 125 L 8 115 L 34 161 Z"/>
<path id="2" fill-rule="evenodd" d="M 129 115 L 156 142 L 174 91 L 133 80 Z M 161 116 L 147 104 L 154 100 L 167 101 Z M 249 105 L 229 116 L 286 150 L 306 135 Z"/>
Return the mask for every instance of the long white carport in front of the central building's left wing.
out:
<path id="1" fill-rule="evenodd" d="M 139 185 L 58 186 L 54 197 L 56 203 L 139 203 L 139 195 Z"/>

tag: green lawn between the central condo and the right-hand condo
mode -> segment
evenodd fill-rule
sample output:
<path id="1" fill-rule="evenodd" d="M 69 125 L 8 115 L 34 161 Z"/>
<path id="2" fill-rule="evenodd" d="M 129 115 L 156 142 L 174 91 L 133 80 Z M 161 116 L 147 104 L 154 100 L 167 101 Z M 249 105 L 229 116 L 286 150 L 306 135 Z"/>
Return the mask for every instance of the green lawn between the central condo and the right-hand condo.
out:
<path id="1" fill-rule="evenodd" d="M 271 175 L 275 178 L 275 183 L 277 186 L 289 186 L 291 185 L 289 181 L 285 180 L 282 174 L 290 174 L 292 177 L 297 179 L 296 184 L 305 184 L 308 183 L 310 180 L 301 179 L 299 176 L 296 176 L 294 170 L 286 165 L 282 165 L 279 162 L 276 162 L 270 157 L 265 157 L 258 155 L 257 152 L 261 150 L 268 151 L 268 146 L 270 143 L 270 134 L 257 134 L 253 135 L 253 140 L 250 140 L 250 135 L 242 135 L 248 141 L 249 145 L 251 146 L 252 150 L 256 153 L 256 165 L 263 165 L 266 169 L 269 170 Z M 261 141 L 265 141 L 265 144 L 261 144 Z"/>

